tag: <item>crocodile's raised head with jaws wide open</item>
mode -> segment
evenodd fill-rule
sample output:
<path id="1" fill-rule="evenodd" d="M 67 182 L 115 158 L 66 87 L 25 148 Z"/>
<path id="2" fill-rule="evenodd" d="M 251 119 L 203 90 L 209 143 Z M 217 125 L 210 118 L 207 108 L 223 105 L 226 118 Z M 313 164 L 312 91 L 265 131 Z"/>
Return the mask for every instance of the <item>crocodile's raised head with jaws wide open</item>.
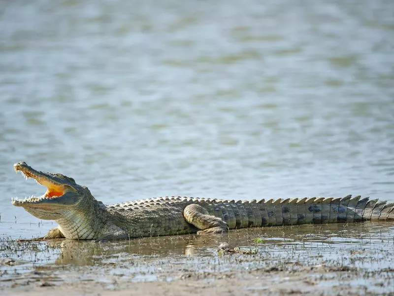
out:
<path id="1" fill-rule="evenodd" d="M 12 199 L 14 206 L 23 207 L 39 219 L 56 220 L 91 196 L 87 187 L 76 184 L 74 179 L 62 174 L 36 171 L 26 162 L 15 163 L 14 169 L 16 172 L 21 172 L 26 179 L 33 178 L 38 184 L 47 188 L 46 192 L 40 196 L 32 195 L 29 198 Z"/>

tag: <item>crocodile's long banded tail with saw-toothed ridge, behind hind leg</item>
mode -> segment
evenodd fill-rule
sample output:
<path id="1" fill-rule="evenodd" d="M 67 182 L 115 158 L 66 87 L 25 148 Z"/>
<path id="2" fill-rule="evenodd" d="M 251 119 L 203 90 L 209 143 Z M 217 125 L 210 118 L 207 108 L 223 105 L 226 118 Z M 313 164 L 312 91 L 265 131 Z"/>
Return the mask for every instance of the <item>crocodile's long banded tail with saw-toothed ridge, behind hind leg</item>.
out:
<path id="1" fill-rule="evenodd" d="M 217 201 L 218 202 L 218 201 Z M 229 228 L 304 223 L 361 222 L 394 220 L 394 203 L 352 198 L 295 198 L 261 201 L 224 201 L 222 219 Z"/>

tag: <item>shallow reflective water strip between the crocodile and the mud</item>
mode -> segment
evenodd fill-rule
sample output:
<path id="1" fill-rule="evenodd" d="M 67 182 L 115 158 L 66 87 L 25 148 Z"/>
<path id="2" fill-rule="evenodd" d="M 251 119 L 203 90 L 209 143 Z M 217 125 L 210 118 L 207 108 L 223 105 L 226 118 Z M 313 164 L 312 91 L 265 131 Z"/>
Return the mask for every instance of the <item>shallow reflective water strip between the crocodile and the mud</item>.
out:
<path id="1" fill-rule="evenodd" d="M 215 257 L 221 242 L 228 242 L 231 247 L 239 247 L 244 251 L 256 250 L 270 259 L 286 257 L 286 253 L 304 253 L 309 257 L 321 256 L 325 260 L 335 261 L 344 260 L 338 256 L 338 252 L 346 254 L 377 250 L 378 253 L 384 254 L 394 251 L 394 226 L 390 222 L 362 222 L 345 225 L 335 223 L 256 227 L 231 230 L 224 235 L 144 237 L 103 245 L 67 239 L 15 243 L 3 239 L 0 252 L 2 258 L 16 257 L 21 261 L 30 261 L 36 266 L 42 264 L 89 266 L 106 264 L 113 260 L 118 262 L 130 256 L 151 259 Z M 10 250 L 15 254 L 9 253 Z M 349 261 L 348 259 L 345 260 Z M 293 256 L 293 260 L 297 260 L 296 257 Z M 376 261 L 372 265 L 368 264 L 367 267 L 373 270 L 377 267 L 388 268 L 392 264 L 392 260 L 386 261 L 383 265 L 382 262 Z M 18 265 L 18 262 L 11 265 Z"/>

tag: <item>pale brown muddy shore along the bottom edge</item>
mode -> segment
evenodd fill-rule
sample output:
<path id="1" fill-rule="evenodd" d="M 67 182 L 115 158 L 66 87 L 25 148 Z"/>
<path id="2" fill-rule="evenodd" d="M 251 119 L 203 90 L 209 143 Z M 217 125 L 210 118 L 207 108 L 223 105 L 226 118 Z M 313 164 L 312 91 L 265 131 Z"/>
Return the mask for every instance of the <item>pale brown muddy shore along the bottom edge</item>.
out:
<path id="1" fill-rule="evenodd" d="M 6 295 L 387 295 L 393 293 L 393 277 L 387 272 L 364 284 L 358 281 L 357 271 L 348 267 L 319 266 L 292 270 L 253 270 L 241 272 L 185 273 L 172 281 L 109 283 L 80 281 L 62 283 L 41 281 L 14 285 L 5 289 Z M 382 271 L 382 273 L 384 273 Z M 385 291 L 382 291 L 385 290 Z"/>

